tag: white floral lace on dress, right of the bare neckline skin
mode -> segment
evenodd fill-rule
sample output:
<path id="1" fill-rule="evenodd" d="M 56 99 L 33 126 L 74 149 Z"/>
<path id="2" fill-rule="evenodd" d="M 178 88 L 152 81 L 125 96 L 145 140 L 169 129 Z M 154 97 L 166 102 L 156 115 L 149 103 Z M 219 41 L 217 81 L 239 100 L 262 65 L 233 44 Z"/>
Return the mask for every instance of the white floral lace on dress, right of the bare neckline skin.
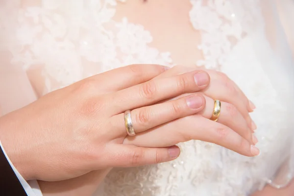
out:
<path id="1" fill-rule="evenodd" d="M 201 32 L 201 44 L 198 49 L 203 51 L 205 60 L 199 60 L 198 66 L 220 69 L 226 63 L 232 47 L 242 36 L 252 31 L 256 21 L 262 18 L 258 1 L 242 0 L 190 0 L 191 23 Z M 239 5 L 239 7 L 237 7 Z M 259 16 L 259 17 L 258 17 Z M 248 30 L 248 31 L 247 31 Z"/>

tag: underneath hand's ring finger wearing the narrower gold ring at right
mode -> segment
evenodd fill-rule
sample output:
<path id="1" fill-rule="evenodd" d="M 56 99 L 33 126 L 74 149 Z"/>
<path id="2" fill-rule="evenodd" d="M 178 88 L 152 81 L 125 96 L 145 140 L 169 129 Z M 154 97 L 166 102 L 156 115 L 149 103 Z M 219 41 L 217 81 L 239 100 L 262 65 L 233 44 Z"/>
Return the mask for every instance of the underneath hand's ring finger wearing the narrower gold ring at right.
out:
<path id="1" fill-rule="evenodd" d="M 198 114 L 207 119 L 211 119 L 214 110 L 214 99 L 206 96 L 204 97 L 206 99 L 206 105 Z M 230 103 L 221 101 L 221 113 L 217 122 L 228 126 L 251 144 L 256 144 L 258 142 L 243 115 L 236 106 Z"/>

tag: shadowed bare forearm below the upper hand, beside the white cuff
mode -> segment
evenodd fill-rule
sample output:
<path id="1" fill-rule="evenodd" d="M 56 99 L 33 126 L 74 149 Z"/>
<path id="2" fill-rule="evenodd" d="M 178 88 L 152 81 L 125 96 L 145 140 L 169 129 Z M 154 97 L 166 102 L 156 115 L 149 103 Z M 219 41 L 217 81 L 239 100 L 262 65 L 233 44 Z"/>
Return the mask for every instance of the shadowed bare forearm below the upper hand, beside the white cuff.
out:
<path id="1" fill-rule="evenodd" d="M 69 180 L 38 182 L 43 196 L 92 196 L 110 170 L 93 171 Z"/>

